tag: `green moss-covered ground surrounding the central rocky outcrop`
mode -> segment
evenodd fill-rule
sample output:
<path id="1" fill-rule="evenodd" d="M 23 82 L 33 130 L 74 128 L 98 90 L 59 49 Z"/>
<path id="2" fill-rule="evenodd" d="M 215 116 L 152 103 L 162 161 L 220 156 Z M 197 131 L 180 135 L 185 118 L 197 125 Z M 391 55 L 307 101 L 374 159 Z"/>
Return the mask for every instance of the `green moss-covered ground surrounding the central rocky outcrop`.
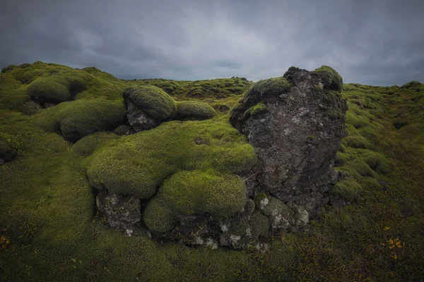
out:
<path id="1" fill-rule="evenodd" d="M 66 80 L 71 100 L 38 108 L 31 104 L 35 102 L 28 88 L 51 76 L 54 81 Z M 219 86 L 216 80 L 134 82 L 96 68 L 74 70 L 41 62 L 5 69 L 0 74 L 0 144 L 15 159 L 0 166 L 0 281 L 420 281 L 424 85 L 419 82 L 401 87 L 343 86 L 349 104 L 348 136 L 336 165 L 346 178 L 332 193 L 351 205 L 327 207 L 301 233 L 276 235 L 264 255 L 253 247 L 232 251 L 160 243 L 143 231 L 126 237 L 105 226 L 95 213 L 85 164 L 101 153 L 98 147 L 135 135 L 95 133 L 73 145 L 47 124 L 57 121 L 52 118 L 55 109 L 83 100 L 122 102 L 126 87 L 161 87 L 160 81 L 171 84 L 163 87 L 175 90 L 163 89 L 177 101 L 199 99 L 219 109 L 216 105 L 234 106 L 251 83 L 228 80 L 229 86 L 224 80 Z M 244 90 L 228 90 L 235 80 Z M 194 85 L 218 92 L 196 96 L 196 90 L 189 92 Z M 229 128 L 228 111 L 217 113 L 207 121 L 184 123 Z M 179 124 L 164 125 L 172 123 Z M 178 181 L 184 177 L 175 176 Z M 158 201 L 166 202 L 178 189 L 169 185 Z M 196 204 L 172 208 L 197 209 Z"/>

